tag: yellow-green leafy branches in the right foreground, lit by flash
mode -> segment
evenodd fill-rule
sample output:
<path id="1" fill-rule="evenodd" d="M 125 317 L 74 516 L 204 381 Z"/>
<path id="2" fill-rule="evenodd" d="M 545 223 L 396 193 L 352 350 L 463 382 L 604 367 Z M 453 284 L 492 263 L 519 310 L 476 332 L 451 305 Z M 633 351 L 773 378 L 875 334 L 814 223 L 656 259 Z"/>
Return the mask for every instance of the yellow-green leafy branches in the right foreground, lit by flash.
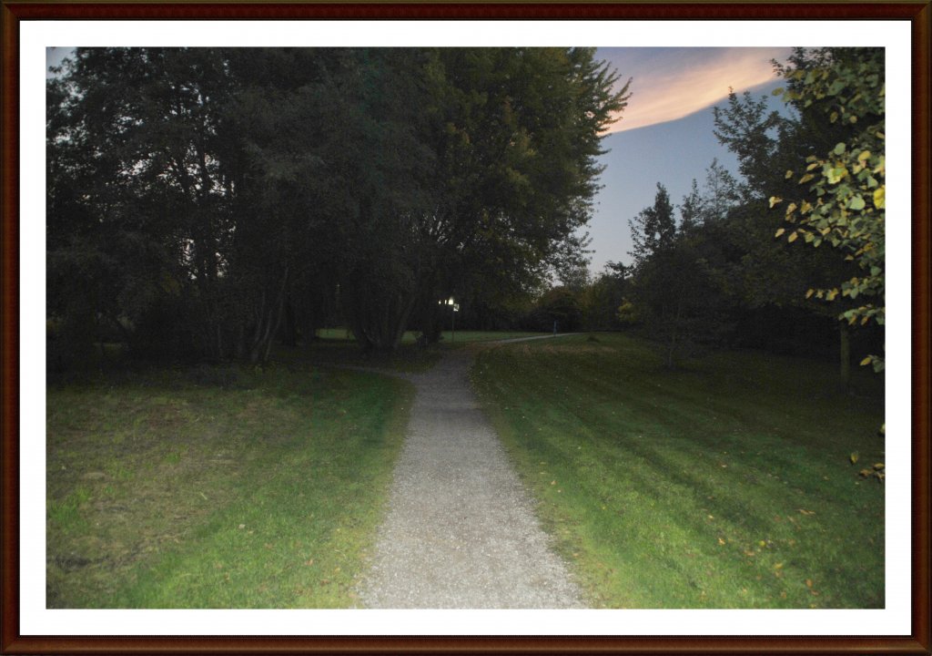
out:
<path id="1" fill-rule="evenodd" d="M 806 185 L 807 192 L 788 203 L 789 243 L 802 238 L 818 247 L 828 243 L 859 274 L 840 285 L 810 288 L 806 298 L 832 301 L 862 299 L 839 314 L 850 326 L 884 325 L 884 51 L 882 49 L 821 49 L 808 57 L 798 52 L 794 65 L 781 67 L 788 81 L 784 98 L 810 110 L 831 125 L 847 128 L 844 140 L 830 150 L 806 158 L 804 173 L 786 177 Z M 782 202 L 771 198 L 771 205 Z M 865 299 L 866 297 L 866 299 Z M 861 364 L 884 369 L 883 356 L 870 355 Z"/>

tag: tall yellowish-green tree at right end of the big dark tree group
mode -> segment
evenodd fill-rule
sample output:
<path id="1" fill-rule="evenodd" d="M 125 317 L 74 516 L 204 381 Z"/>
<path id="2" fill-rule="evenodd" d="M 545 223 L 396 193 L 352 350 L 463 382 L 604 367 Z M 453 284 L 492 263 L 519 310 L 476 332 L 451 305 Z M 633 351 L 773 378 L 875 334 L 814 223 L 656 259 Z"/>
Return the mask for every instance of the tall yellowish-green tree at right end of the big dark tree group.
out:
<path id="1" fill-rule="evenodd" d="M 442 49 L 425 78 L 436 99 L 430 216 L 436 299 L 477 294 L 500 306 L 585 261 L 604 131 L 627 84 L 592 49 Z M 433 318 L 432 318 L 433 316 Z M 437 334 L 437 330 L 428 330 Z"/>

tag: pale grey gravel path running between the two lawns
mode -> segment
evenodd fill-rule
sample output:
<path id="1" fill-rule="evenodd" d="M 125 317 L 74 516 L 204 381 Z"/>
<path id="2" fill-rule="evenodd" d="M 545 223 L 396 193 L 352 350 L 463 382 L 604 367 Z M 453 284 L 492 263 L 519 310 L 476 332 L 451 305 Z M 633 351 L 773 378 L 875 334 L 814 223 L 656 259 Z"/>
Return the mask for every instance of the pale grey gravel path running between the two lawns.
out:
<path id="1" fill-rule="evenodd" d="M 361 589 L 373 608 L 583 607 L 449 352 L 417 385 L 389 514 Z"/>

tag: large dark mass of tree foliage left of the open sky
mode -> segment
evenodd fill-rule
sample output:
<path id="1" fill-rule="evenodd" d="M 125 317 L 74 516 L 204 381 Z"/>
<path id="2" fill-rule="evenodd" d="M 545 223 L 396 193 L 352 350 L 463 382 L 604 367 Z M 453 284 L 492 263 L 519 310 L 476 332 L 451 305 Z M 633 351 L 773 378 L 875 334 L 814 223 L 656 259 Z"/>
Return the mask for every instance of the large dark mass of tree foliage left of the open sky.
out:
<path id="1" fill-rule="evenodd" d="M 437 299 L 579 258 L 626 98 L 594 49 L 76 49 L 48 82 L 58 351 L 435 335 Z"/>

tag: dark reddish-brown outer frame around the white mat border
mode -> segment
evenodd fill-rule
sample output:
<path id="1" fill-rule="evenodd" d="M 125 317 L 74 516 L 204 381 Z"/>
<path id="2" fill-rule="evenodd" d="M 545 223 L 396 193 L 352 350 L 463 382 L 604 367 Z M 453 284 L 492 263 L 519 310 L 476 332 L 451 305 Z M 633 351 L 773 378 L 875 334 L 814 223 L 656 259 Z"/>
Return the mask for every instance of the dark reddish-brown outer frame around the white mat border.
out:
<path id="1" fill-rule="evenodd" d="M 911 633 L 838 636 L 618 636 L 618 637 L 164 637 L 20 635 L 19 472 L 19 35 L 30 20 L 905 20 L 912 52 L 912 581 Z M 3 0 L 0 211 L 2 211 L 2 522 L 0 522 L 0 653 L 305 653 L 305 652 L 606 652 L 761 654 L 932 654 L 930 629 L 930 0 L 891 3 L 686 2 L 601 4 L 111 4 Z M 924 73 L 924 71 L 926 73 Z"/>

